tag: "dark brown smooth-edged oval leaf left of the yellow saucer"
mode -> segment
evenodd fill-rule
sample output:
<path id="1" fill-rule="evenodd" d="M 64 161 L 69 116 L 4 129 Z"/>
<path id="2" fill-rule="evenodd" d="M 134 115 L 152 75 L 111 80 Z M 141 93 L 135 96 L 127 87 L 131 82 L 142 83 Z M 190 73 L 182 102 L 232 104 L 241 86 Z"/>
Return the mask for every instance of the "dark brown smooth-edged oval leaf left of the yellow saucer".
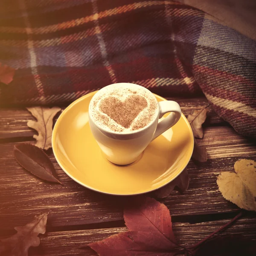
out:
<path id="1" fill-rule="evenodd" d="M 29 143 L 20 143 L 14 146 L 14 155 L 17 162 L 33 175 L 61 184 L 51 160 L 41 148 Z"/>

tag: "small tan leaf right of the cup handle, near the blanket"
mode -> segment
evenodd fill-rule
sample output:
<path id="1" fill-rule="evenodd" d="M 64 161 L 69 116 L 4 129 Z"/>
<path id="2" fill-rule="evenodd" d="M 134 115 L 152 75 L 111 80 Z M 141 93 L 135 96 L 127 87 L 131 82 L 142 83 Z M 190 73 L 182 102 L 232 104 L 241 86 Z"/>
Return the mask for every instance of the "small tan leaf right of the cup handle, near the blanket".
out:
<path id="1" fill-rule="evenodd" d="M 207 109 L 196 110 L 192 115 L 188 115 L 188 121 L 191 125 L 193 134 L 196 138 L 202 139 L 204 137 L 202 124 L 206 119 Z"/>

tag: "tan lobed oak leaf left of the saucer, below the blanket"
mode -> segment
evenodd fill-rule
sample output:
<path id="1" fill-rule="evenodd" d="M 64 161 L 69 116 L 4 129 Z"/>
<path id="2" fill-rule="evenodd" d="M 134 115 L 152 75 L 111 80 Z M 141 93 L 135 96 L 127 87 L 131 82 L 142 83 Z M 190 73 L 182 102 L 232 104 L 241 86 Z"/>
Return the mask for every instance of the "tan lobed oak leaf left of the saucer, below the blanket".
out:
<path id="1" fill-rule="evenodd" d="M 37 140 L 35 145 L 45 150 L 51 148 L 53 117 L 61 111 L 61 108 L 32 107 L 27 108 L 27 110 L 37 119 L 37 121 L 29 121 L 27 123 L 30 128 L 38 132 L 38 135 L 33 136 Z"/>

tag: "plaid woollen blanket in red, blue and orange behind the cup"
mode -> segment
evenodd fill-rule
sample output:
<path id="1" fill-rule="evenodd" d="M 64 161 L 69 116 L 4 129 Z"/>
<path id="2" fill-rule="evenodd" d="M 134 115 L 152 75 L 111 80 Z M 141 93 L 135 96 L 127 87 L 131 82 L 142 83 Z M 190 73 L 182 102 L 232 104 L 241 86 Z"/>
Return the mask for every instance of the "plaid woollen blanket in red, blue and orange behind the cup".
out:
<path id="1" fill-rule="evenodd" d="M 172 1 L 2 0 L 1 105 L 62 104 L 116 82 L 162 96 L 204 93 L 256 137 L 256 42 Z"/>

